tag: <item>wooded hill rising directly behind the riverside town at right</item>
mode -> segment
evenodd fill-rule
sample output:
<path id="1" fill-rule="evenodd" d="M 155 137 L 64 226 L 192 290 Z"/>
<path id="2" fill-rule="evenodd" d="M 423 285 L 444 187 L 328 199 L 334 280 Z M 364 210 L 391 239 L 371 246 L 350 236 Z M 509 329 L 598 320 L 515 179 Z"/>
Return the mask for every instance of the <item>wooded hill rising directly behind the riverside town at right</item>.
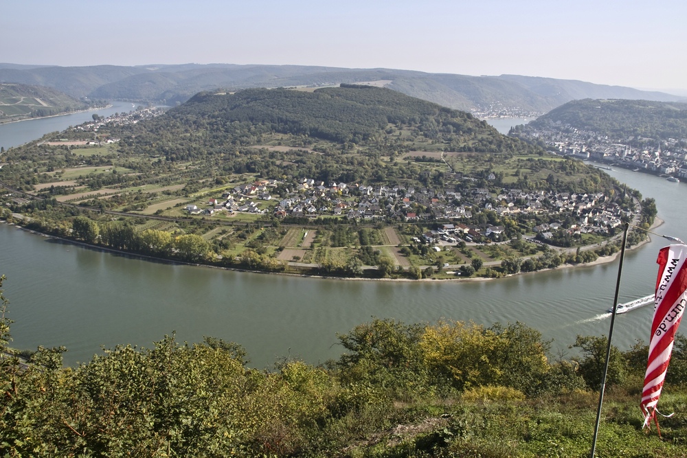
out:
<path id="1" fill-rule="evenodd" d="M 574 100 L 530 122 L 531 128 L 576 128 L 613 138 L 687 138 L 687 104 L 648 100 Z"/>

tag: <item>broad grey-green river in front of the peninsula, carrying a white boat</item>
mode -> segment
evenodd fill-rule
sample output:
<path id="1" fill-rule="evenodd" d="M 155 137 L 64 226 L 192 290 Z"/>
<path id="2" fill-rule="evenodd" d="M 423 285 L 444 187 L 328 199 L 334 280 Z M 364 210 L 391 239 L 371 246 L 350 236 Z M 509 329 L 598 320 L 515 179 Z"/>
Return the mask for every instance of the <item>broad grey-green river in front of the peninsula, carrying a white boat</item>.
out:
<path id="1" fill-rule="evenodd" d="M 120 111 L 121 108 L 120 108 Z M 21 124 L 21 123 L 19 123 Z M 34 137 L 39 137 L 36 135 Z M 684 183 L 629 170 L 609 172 L 656 198 L 666 223 L 660 233 L 685 240 Z M 653 292 L 660 247 L 625 256 L 620 300 Z M 0 274 L 10 299 L 13 345 L 65 345 L 65 363 L 86 362 L 100 350 L 153 345 L 173 331 L 179 341 L 215 336 L 244 345 L 254 367 L 278 358 L 321 363 L 342 351 L 337 332 L 371 317 L 407 323 L 458 319 L 491 325 L 522 321 L 554 339 L 554 356 L 577 334 L 608 332 L 618 261 L 561 268 L 487 282 L 379 282 L 241 273 L 150 262 L 52 240 L 0 224 Z M 613 342 L 647 341 L 651 307 L 616 319 Z"/>

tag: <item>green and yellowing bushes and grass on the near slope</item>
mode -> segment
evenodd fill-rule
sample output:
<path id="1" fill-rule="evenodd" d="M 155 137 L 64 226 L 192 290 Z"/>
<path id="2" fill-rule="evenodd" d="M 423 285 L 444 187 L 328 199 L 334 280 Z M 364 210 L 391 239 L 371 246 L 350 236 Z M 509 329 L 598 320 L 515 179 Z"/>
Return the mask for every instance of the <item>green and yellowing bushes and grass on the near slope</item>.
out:
<path id="1" fill-rule="evenodd" d="M 0 281 L 1 287 L 1 281 Z M 581 457 L 597 395 L 585 380 L 602 338 L 579 361 L 546 358 L 521 323 L 484 328 L 374 319 L 339 336 L 326 368 L 286 361 L 249 369 L 240 345 L 166 336 L 62 367 L 39 348 L 26 369 L 8 347 L 1 295 L 0 455 L 82 457 Z M 684 457 L 687 339 L 673 356 L 663 439 L 641 431 L 646 347 L 614 352 L 598 456 Z"/>

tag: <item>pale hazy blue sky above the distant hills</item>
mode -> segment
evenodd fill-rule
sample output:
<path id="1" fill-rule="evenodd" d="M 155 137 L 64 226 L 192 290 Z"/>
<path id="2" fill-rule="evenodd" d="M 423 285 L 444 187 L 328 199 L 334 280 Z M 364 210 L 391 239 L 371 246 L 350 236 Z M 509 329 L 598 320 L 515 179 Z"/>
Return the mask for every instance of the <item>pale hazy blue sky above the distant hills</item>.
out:
<path id="1" fill-rule="evenodd" d="M 0 0 L 0 62 L 296 64 L 687 89 L 685 0 Z"/>

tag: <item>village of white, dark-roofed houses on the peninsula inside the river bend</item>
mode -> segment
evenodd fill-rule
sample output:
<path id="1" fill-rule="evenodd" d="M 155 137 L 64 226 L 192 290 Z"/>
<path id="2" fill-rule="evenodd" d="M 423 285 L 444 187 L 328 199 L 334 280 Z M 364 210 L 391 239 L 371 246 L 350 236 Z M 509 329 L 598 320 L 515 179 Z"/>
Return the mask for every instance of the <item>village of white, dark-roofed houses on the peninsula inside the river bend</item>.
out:
<path id="1" fill-rule="evenodd" d="M 284 197 L 275 195 L 278 188 Z M 633 218 L 633 211 L 622 209 L 600 192 L 571 194 L 504 188 L 494 196 L 480 187 L 460 193 L 427 187 L 326 184 L 314 179 L 302 179 L 293 189 L 277 180 L 246 183 L 221 197 L 186 205 L 185 211 L 203 216 L 218 212 L 264 214 L 298 222 L 324 217 L 348 222 L 420 222 L 436 228 L 423 234 L 425 242 L 441 244 L 458 242 L 455 237 L 466 242 L 510 240 L 514 234 L 506 231 L 506 218 L 539 222 L 523 232 L 543 242 L 552 240 L 557 231 L 570 236 L 608 236 L 622 220 Z"/>

